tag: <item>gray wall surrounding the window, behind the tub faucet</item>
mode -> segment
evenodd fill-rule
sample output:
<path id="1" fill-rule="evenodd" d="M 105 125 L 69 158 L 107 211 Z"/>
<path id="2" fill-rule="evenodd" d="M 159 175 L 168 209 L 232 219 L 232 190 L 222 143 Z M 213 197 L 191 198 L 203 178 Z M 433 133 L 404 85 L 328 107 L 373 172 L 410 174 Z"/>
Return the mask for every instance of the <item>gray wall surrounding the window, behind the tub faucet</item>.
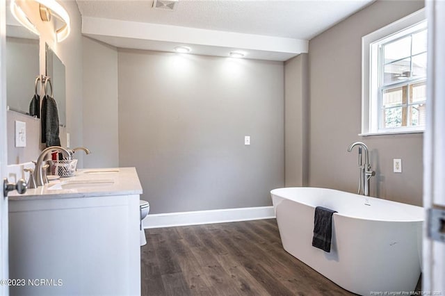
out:
<path id="1" fill-rule="evenodd" d="M 360 137 L 362 36 L 423 8 L 423 1 L 376 1 L 309 42 L 309 185 L 355 192 L 360 140 L 371 149 L 371 195 L 422 204 L 423 134 Z M 402 158 L 403 173 L 392 172 Z"/>

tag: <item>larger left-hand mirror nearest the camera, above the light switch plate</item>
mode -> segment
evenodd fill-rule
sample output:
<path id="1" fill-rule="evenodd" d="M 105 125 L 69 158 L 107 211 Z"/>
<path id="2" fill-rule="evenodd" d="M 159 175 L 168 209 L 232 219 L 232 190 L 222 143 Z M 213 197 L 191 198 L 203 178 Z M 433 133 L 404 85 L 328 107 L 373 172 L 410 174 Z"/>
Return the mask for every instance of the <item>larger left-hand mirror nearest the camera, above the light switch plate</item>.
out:
<path id="1" fill-rule="evenodd" d="M 38 36 L 22 26 L 6 26 L 6 98 L 10 110 L 29 115 L 39 68 Z"/>

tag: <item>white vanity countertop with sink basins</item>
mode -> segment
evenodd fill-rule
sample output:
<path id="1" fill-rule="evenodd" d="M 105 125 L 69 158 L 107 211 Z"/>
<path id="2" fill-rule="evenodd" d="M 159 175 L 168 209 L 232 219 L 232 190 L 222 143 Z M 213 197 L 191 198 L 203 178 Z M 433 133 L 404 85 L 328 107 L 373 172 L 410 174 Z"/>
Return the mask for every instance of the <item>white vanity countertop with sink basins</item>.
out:
<path id="1" fill-rule="evenodd" d="M 19 195 L 17 191 L 10 192 L 8 199 L 13 201 L 140 195 L 142 192 L 135 167 L 112 167 L 78 170 L 74 176 L 50 181 L 39 188 L 28 189 L 24 195 Z"/>

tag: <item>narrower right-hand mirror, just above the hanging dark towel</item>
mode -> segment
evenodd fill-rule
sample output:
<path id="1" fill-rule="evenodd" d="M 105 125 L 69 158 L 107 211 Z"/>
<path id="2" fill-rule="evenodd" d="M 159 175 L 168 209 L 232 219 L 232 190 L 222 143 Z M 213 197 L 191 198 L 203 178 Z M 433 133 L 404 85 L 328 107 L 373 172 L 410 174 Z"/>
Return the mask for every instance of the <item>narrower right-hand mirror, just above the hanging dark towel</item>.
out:
<path id="1" fill-rule="evenodd" d="M 46 75 L 51 77 L 53 97 L 57 103 L 58 122 L 60 126 L 66 126 L 66 87 L 65 65 L 58 56 L 46 44 Z M 50 92 L 51 90 L 48 89 Z"/>

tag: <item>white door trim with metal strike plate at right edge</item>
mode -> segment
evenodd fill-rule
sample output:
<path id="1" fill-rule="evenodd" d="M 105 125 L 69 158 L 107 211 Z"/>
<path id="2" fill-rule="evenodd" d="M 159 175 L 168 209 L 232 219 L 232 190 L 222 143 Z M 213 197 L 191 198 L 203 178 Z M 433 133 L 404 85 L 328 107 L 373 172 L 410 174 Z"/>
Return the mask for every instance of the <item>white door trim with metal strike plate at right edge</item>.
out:
<path id="1" fill-rule="evenodd" d="M 426 13 L 428 103 L 423 135 L 423 206 L 428 211 L 445 207 L 445 1 L 427 0 Z M 445 243 L 430 240 L 428 223 L 424 224 L 422 290 L 426 295 L 445 295 Z"/>

